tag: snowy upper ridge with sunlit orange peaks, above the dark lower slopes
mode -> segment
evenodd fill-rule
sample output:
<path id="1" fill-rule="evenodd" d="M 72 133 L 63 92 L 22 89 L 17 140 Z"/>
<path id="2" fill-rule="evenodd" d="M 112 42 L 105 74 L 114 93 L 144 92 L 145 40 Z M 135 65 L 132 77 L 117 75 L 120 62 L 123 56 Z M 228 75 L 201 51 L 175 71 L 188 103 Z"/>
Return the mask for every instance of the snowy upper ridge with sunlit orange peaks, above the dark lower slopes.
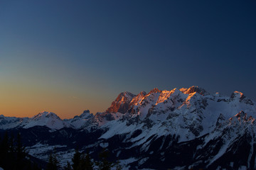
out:
<path id="1" fill-rule="evenodd" d="M 171 91 L 160 91 L 155 88 L 148 94 L 144 91 L 138 95 L 123 92 L 117 96 L 107 111 L 92 115 L 86 110 L 68 120 L 61 120 L 58 115 L 51 112 L 38 113 L 33 118 L 9 118 L 1 115 L 0 128 L 31 128 L 36 125 L 52 129 L 79 129 L 90 126 L 106 128 L 120 123 L 124 126 L 135 123 L 140 128 L 140 124 L 153 127 L 161 123 L 162 128 L 169 133 L 181 132 L 182 134 L 177 135 L 180 135 L 183 141 L 209 133 L 215 128 L 220 114 L 224 120 L 228 120 L 240 111 L 256 117 L 255 102 L 238 91 L 228 97 L 220 94 L 210 95 L 198 86 Z"/>

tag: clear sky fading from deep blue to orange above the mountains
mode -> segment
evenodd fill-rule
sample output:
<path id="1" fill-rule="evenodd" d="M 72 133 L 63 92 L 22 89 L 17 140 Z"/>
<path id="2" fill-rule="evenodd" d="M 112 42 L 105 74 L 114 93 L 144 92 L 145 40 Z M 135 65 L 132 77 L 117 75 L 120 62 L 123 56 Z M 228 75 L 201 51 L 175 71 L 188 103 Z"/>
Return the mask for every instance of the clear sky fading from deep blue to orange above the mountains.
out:
<path id="1" fill-rule="evenodd" d="M 105 111 L 122 91 L 256 101 L 256 1 L 0 0 L 0 115 Z"/>

